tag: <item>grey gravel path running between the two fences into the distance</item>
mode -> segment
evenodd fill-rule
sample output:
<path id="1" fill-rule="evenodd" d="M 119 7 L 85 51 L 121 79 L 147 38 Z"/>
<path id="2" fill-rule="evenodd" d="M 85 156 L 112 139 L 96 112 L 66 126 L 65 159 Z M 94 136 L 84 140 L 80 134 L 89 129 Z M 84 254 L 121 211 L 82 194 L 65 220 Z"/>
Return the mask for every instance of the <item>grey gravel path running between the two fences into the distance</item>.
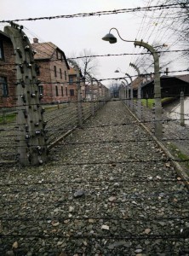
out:
<path id="1" fill-rule="evenodd" d="M 0 255 L 189 255 L 188 190 L 122 102 L 50 155 L 1 173 Z"/>

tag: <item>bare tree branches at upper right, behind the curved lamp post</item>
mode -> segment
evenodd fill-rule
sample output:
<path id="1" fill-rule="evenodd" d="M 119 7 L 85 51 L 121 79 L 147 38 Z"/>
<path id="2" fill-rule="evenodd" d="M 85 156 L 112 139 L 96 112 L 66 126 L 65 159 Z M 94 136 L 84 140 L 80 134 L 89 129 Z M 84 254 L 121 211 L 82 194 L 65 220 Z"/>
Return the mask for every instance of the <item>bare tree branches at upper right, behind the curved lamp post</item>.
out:
<path id="1" fill-rule="evenodd" d="M 165 67 L 174 65 L 175 61 L 188 61 L 189 0 L 144 0 L 144 3 L 168 5 L 168 8 L 143 15 L 139 31 L 140 37 L 146 42 L 151 41 L 152 46 L 159 52 L 161 71 L 164 72 Z M 169 9 L 169 4 L 177 5 Z M 175 52 L 170 53 L 171 50 Z M 151 55 L 140 55 L 135 64 L 140 67 L 141 73 L 153 72 Z"/>

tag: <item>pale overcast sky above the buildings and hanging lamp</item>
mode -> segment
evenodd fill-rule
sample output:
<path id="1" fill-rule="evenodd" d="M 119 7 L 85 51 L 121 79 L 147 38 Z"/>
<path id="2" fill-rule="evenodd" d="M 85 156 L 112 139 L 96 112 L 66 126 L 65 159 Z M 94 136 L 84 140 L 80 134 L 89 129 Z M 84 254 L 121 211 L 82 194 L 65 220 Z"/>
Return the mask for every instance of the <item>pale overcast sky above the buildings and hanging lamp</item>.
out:
<path id="1" fill-rule="evenodd" d="M 54 15 L 74 15 L 77 13 L 91 13 L 113 9 L 128 9 L 146 6 L 151 1 L 144 0 L 0 0 L 0 19 L 14 20 Z M 154 0 L 154 3 L 158 1 Z M 101 15 L 93 17 L 80 17 L 71 19 L 20 21 L 25 26 L 27 36 L 39 38 L 39 42 L 52 42 L 62 49 L 66 57 L 73 54 L 79 55 L 83 49 L 89 49 L 96 55 L 117 55 L 123 53 L 140 53 L 141 49 L 135 49 L 133 43 L 125 43 L 117 39 L 117 44 L 109 44 L 101 38 L 116 27 L 124 39 L 147 40 L 149 44 L 161 38 L 162 44 L 172 44 L 166 35 L 161 34 L 161 20 L 157 23 L 154 13 L 124 13 L 117 15 Z M 164 22 L 164 21 L 163 21 Z M 146 26 L 147 24 L 147 26 Z M 6 23 L 0 23 L 0 29 Z M 157 31 L 157 32 L 156 32 Z M 117 33 L 112 33 L 117 37 Z M 169 41 L 169 42 L 168 42 Z M 145 58 L 146 55 L 143 55 Z M 173 56 L 169 55 L 170 58 Z M 124 73 L 135 75 L 136 72 L 129 67 L 129 62 L 137 63 L 138 56 L 111 56 L 99 57 L 97 79 L 110 79 L 122 77 L 123 74 L 114 73 L 119 67 Z M 183 61 L 174 62 L 169 70 L 179 67 L 187 68 Z M 160 61 L 161 64 L 161 61 Z M 165 67 L 163 67 L 165 70 Z M 110 82 L 104 82 L 107 84 Z"/>

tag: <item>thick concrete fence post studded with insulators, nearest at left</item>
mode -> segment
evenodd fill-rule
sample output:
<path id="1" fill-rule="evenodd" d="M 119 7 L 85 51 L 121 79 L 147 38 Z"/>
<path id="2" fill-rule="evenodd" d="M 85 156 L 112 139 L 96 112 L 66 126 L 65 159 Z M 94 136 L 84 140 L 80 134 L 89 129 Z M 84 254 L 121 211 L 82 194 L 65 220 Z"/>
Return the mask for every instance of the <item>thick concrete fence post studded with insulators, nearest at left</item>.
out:
<path id="1" fill-rule="evenodd" d="M 16 62 L 18 159 L 23 166 L 37 166 L 47 160 L 46 124 L 40 105 L 34 52 L 22 28 L 11 22 L 11 26 L 4 27 L 4 32 L 11 38 Z"/>

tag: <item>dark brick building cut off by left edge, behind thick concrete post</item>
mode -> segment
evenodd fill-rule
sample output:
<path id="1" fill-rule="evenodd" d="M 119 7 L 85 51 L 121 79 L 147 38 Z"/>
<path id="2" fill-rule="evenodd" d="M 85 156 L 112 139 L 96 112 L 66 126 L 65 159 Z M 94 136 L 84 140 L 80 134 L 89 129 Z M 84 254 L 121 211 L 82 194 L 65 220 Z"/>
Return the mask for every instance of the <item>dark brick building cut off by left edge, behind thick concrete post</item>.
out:
<path id="1" fill-rule="evenodd" d="M 14 107 L 16 102 L 16 72 L 14 47 L 4 32 L 0 31 L 0 107 Z"/>

